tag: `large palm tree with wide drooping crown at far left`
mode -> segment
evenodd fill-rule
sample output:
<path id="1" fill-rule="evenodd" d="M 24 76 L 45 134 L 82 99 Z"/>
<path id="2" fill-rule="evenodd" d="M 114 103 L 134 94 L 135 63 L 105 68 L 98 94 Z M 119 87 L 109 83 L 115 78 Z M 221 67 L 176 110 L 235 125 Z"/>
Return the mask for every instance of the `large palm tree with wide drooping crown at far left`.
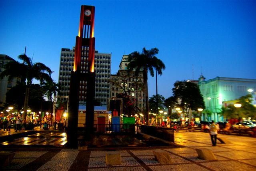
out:
<path id="1" fill-rule="evenodd" d="M 50 78 L 50 73 L 52 72 L 50 68 L 45 66 L 40 62 L 32 63 L 32 59 L 26 56 L 26 54 L 22 54 L 18 56 L 19 60 L 22 60 L 23 63 L 18 61 L 8 62 L 4 68 L 4 70 L 0 76 L 9 76 L 11 78 L 18 77 L 21 79 L 21 83 L 26 86 L 26 94 L 24 100 L 24 114 L 22 115 L 22 122 L 26 119 L 27 109 L 28 109 L 28 96 L 29 96 L 29 88 L 32 84 L 32 80 L 39 80 L 40 83 L 48 80 L 52 80 Z"/>

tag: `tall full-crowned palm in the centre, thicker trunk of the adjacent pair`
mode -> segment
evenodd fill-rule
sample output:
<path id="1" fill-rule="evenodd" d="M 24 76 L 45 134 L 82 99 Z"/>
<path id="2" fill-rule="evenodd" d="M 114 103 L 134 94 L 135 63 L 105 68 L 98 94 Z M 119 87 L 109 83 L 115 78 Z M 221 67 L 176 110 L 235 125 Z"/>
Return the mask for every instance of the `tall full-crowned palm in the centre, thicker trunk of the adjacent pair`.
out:
<path id="1" fill-rule="evenodd" d="M 158 54 L 158 48 L 152 48 L 150 50 L 146 50 L 146 48 L 142 49 L 142 53 L 135 51 L 129 54 L 127 60 L 129 64 L 127 68 L 129 71 L 135 70 L 135 75 L 138 76 L 138 73 L 142 71 L 143 73 L 143 83 L 145 88 L 145 101 L 146 101 L 146 123 L 149 125 L 149 109 L 148 109 L 148 70 L 150 75 L 154 77 L 154 64 L 153 64 L 153 56 Z"/>

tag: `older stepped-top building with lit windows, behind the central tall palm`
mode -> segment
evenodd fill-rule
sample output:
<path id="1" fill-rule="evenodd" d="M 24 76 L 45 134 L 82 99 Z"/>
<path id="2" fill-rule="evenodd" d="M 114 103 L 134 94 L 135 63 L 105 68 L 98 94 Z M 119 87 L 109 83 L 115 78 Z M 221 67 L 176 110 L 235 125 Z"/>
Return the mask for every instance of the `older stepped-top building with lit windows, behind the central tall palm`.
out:
<path id="1" fill-rule="evenodd" d="M 123 55 L 117 74 L 111 75 L 110 97 L 114 98 L 119 94 L 126 94 L 130 103 L 135 107 L 135 114 L 138 114 L 146 107 L 143 72 L 139 72 L 138 76 L 135 76 L 134 71 L 128 72 L 127 65 L 129 62 L 127 58 L 128 55 Z"/>

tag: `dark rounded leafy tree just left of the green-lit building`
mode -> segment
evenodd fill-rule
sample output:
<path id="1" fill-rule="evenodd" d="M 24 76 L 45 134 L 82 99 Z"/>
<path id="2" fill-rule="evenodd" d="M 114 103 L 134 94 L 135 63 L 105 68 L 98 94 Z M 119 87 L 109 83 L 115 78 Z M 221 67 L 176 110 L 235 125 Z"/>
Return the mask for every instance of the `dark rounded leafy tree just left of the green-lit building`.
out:
<path id="1" fill-rule="evenodd" d="M 188 108 L 189 111 L 198 108 L 205 109 L 204 99 L 200 93 L 200 89 L 197 84 L 186 81 L 177 81 L 174 83 L 174 88 L 172 89 L 174 98 L 181 101 L 180 105 L 185 109 Z"/>

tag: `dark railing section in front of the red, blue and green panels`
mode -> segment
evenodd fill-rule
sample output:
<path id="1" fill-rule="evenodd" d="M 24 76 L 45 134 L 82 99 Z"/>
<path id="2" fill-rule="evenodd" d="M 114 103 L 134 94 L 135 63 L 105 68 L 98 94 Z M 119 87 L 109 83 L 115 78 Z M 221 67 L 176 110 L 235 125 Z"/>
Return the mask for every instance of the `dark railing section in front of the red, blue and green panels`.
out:
<path id="1" fill-rule="evenodd" d="M 93 132 L 96 134 L 134 133 L 140 128 L 134 124 L 94 124 Z"/>

